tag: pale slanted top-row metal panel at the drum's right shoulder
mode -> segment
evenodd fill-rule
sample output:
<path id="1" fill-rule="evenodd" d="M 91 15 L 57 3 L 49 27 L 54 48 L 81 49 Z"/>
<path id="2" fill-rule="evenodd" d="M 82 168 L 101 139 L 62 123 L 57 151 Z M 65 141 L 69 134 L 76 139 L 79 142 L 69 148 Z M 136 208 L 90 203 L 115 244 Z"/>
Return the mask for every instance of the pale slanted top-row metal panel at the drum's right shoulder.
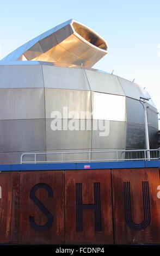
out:
<path id="1" fill-rule="evenodd" d="M 121 84 L 122 90 L 124 90 L 124 93 L 126 96 L 131 97 L 133 99 L 137 99 L 137 100 L 139 100 L 140 97 L 144 96 L 139 84 L 133 83 L 119 76 L 117 77 Z"/>

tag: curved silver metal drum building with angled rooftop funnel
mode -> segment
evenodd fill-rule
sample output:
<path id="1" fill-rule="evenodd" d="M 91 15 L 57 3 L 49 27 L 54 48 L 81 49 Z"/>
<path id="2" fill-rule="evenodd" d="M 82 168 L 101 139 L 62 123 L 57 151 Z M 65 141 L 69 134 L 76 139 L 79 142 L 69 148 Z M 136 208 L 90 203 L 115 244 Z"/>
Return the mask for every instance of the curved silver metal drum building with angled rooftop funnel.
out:
<path id="1" fill-rule="evenodd" d="M 24 152 L 145 148 L 144 109 L 139 99 L 150 96 L 137 83 L 91 69 L 107 54 L 107 48 L 101 36 L 70 20 L 1 60 L 1 164 L 20 163 Z M 152 100 L 147 106 L 150 147 L 157 148 L 157 109 Z M 72 118 L 87 124 L 82 112 L 92 112 L 91 129 L 53 130 L 53 111 L 62 113 L 62 124 Z M 109 124 L 107 136 L 100 136 L 100 127 L 93 129 L 96 120 Z M 90 155 L 75 157 L 88 160 Z M 46 156 L 39 159 L 45 161 Z M 54 160 L 48 155 L 50 159 Z"/>

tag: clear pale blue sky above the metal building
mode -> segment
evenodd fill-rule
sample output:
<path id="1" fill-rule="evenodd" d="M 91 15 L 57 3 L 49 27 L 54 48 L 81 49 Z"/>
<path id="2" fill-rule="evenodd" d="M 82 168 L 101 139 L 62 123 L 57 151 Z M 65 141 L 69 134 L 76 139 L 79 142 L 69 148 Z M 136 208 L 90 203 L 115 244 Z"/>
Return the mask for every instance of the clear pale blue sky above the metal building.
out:
<path id="1" fill-rule="evenodd" d="M 160 0 L 1 0 L 0 59 L 69 19 L 104 38 L 108 54 L 95 67 L 146 87 L 160 112 Z"/>

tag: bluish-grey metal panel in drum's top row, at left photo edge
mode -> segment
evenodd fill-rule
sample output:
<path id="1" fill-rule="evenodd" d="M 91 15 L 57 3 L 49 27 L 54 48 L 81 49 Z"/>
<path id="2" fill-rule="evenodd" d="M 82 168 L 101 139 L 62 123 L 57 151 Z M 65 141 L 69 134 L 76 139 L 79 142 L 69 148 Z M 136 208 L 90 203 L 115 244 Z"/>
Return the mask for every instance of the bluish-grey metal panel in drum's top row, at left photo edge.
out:
<path id="1" fill-rule="evenodd" d="M 0 88 L 44 88 L 40 65 L 0 65 Z"/>

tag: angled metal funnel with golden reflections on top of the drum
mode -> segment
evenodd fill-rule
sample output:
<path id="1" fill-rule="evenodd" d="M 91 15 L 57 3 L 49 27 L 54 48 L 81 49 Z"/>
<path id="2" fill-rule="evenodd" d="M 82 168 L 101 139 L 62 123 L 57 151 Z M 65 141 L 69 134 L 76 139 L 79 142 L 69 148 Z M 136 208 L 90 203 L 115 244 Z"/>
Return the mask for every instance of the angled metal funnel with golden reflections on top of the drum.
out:
<path id="1" fill-rule="evenodd" d="M 107 48 L 100 35 L 69 20 L 30 40 L 3 60 L 41 60 L 91 67 L 107 54 Z"/>

